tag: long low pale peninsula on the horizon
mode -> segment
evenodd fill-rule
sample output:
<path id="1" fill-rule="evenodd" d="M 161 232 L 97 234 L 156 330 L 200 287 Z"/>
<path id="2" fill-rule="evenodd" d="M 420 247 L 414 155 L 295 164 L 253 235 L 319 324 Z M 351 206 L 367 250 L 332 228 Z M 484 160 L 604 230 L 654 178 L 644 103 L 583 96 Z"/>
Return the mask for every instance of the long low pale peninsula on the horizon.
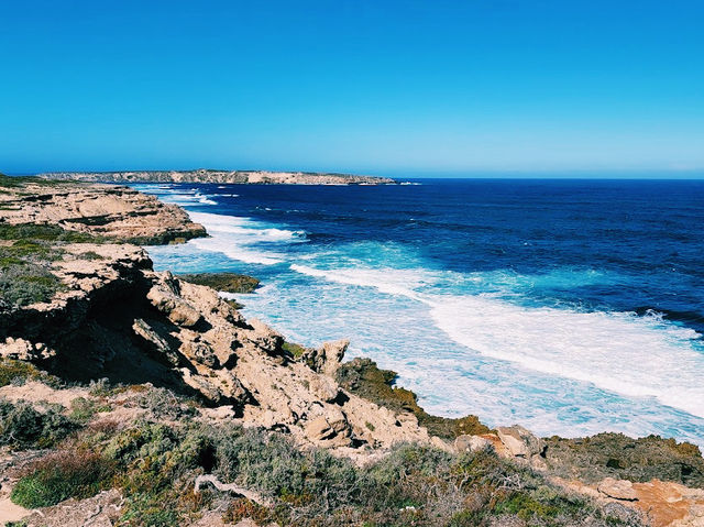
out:
<path id="1" fill-rule="evenodd" d="M 389 185 L 389 177 L 358 176 L 318 172 L 270 171 L 124 171 L 124 172 L 51 172 L 38 174 L 48 179 L 73 179 L 102 183 L 234 183 L 250 185 Z"/>

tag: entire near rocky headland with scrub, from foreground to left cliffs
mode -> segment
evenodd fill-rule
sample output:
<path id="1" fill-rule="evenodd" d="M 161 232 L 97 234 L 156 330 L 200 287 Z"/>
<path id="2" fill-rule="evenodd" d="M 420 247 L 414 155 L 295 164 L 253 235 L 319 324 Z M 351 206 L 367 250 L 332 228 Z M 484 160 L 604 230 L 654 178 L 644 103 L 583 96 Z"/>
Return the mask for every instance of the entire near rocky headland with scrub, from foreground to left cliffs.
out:
<path id="1" fill-rule="evenodd" d="M 0 182 L 0 523 L 704 525 L 704 460 L 657 437 L 430 416 L 395 374 L 245 319 L 205 235 L 123 187 Z"/>

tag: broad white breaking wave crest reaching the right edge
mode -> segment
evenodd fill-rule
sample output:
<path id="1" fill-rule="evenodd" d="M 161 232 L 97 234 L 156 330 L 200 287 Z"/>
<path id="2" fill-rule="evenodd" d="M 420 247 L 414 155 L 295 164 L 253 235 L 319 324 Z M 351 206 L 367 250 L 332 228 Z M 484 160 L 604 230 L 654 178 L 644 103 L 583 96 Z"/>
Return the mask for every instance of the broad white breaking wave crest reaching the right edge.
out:
<path id="1" fill-rule="evenodd" d="M 418 293 L 419 286 L 437 278 L 425 270 L 321 270 L 299 264 L 290 268 L 424 303 L 439 329 L 484 356 L 627 397 L 653 397 L 704 417 L 704 354 L 693 347 L 700 334 L 692 329 L 654 316 L 531 308 L 491 295 Z M 592 273 L 585 278 L 593 278 Z"/>

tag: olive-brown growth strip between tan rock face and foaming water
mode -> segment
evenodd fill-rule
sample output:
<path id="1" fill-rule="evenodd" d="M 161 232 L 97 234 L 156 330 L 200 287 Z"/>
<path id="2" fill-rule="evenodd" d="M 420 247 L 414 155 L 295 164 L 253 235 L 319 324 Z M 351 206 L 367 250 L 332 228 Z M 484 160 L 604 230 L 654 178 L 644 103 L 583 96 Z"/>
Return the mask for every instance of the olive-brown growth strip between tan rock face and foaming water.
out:
<path id="1" fill-rule="evenodd" d="M 353 394 L 395 411 L 414 413 L 418 422 L 428 428 L 433 436 L 454 439 L 464 433 L 477 435 L 490 431 L 475 416 L 459 419 L 431 416 L 418 406 L 415 393 L 394 386 L 396 372 L 381 370 L 371 359 L 354 359 L 342 364 L 337 377 L 340 385 Z"/>

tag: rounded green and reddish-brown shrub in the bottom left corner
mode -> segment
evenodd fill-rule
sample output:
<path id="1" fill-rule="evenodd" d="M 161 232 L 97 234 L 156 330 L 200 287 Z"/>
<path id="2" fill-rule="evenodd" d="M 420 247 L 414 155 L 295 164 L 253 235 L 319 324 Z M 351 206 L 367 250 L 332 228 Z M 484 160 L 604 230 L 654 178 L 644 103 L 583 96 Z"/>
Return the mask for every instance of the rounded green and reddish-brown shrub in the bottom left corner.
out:
<path id="1" fill-rule="evenodd" d="M 106 487 L 112 475 L 112 463 L 100 454 L 55 452 L 24 470 L 10 498 L 25 508 L 48 507 L 69 497 L 90 497 Z"/>

